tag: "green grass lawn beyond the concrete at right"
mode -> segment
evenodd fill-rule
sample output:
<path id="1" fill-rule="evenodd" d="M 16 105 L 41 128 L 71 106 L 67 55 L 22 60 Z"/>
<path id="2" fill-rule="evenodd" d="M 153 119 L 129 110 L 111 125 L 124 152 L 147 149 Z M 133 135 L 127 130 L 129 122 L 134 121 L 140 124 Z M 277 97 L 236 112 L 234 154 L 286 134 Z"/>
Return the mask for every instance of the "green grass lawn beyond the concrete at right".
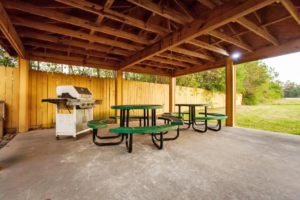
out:
<path id="1" fill-rule="evenodd" d="M 208 112 L 224 114 L 225 109 L 208 109 Z M 269 105 L 238 106 L 237 126 L 300 135 L 300 101 L 280 100 Z"/>

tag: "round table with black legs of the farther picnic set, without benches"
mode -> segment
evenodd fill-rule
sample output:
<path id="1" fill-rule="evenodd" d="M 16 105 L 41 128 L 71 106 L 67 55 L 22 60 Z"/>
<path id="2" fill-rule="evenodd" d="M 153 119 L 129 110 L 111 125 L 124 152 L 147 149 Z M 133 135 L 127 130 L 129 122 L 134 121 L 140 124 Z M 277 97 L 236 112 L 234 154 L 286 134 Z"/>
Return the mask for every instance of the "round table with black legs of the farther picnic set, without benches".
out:
<path id="1" fill-rule="evenodd" d="M 211 106 L 210 104 L 175 104 L 175 106 L 178 106 L 178 116 L 181 115 L 181 107 L 189 107 L 189 120 L 186 123 L 188 125 L 188 127 L 185 128 L 185 130 L 188 130 L 192 125 L 192 127 L 195 131 L 198 131 L 198 132 L 206 131 L 206 130 L 202 131 L 202 130 L 195 128 L 195 125 L 199 125 L 199 124 L 196 124 L 196 121 L 195 121 L 196 107 L 205 107 L 204 113 L 205 113 L 205 117 L 206 117 L 207 116 L 207 107 Z M 207 120 L 204 121 L 204 125 L 205 125 L 205 127 L 207 127 Z"/>

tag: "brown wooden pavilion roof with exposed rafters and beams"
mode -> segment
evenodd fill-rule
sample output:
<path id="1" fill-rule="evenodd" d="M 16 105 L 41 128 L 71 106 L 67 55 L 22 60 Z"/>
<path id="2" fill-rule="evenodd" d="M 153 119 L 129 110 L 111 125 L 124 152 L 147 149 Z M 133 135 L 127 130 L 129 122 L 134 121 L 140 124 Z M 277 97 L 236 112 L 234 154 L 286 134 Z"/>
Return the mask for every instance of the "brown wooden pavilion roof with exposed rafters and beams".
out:
<path id="1" fill-rule="evenodd" d="M 35 61 L 176 77 L 297 52 L 299 0 L 0 0 L 0 45 Z"/>

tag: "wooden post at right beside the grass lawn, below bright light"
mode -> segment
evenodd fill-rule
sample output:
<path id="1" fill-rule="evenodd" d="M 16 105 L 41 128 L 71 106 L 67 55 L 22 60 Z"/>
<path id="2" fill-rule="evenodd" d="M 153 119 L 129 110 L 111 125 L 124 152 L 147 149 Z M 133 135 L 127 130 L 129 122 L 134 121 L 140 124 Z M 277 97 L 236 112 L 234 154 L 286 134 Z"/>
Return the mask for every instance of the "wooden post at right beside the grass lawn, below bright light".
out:
<path id="1" fill-rule="evenodd" d="M 236 126 L 236 68 L 228 58 L 226 62 L 226 126 Z"/>

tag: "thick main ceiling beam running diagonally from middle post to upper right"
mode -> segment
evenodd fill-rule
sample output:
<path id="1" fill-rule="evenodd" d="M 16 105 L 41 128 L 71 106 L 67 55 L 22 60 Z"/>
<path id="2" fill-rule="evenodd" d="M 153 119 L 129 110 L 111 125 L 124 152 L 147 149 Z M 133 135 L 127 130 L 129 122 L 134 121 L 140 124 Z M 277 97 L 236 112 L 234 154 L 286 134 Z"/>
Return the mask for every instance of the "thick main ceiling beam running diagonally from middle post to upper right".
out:
<path id="1" fill-rule="evenodd" d="M 144 50 L 137 52 L 134 56 L 126 58 L 124 63 L 119 66 L 119 70 L 126 69 L 143 60 L 159 55 L 164 51 L 171 50 L 188 40 L 207 34 L 220 26 L 270 5 L 275 1 L 276 0 L 248 0 L 242 4 L 218 8 L 212 11 L 205 20 L 195 19 L 193 22 L 180 29 L 180 31 L 175 31 L 170 35 L 165 36 L 160 41 L 146 47 Z"/>

